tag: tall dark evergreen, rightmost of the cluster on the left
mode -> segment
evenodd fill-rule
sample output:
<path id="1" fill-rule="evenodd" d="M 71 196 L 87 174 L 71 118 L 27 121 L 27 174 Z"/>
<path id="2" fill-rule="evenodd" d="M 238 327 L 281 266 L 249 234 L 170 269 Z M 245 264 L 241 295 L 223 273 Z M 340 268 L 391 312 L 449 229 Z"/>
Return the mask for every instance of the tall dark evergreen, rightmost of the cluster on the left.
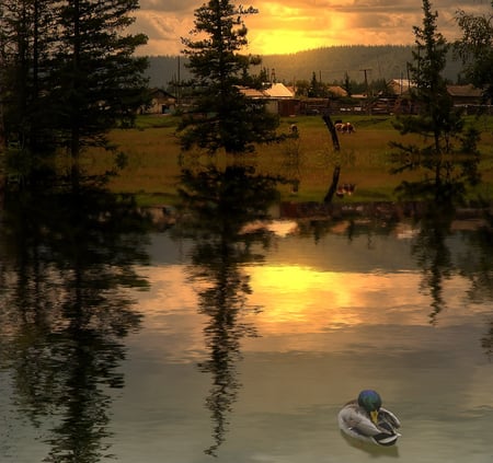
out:
<path id="1" fill-rule="evenodd" d="M 60 141 L 78 160 L 85 146 L 106 146 L 117 123 L 131 121 L 142 102 L 146 58 L 135 58 L 142 34 L 125 34 L 138 0 L 60 0 L 51 82 L 54 117 Z"/>

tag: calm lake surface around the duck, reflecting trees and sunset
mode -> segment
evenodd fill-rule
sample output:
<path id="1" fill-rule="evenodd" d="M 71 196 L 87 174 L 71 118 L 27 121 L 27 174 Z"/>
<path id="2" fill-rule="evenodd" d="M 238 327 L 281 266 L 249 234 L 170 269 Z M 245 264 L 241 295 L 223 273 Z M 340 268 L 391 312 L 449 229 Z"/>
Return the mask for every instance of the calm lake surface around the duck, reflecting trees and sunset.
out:
<path id="1" fill-rule="evenodd" d="M 483 222 L 30 213 L 0 234 L 2 463 L 491 461 Z M 393 448 L 337 428 L 368 387 Z"/>

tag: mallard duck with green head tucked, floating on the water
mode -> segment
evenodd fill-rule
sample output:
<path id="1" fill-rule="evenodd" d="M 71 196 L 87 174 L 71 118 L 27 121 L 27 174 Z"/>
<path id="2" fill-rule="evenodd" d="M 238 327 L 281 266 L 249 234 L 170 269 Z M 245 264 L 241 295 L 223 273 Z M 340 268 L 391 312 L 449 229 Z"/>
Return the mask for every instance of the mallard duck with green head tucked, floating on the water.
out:
<path id="1" fill-rule="evenodd" d="M 340 429 L 347 436 L 378 445 L 393 445 L 401 436 L 399 418 L 381 406 L 374 390 L 364 390 L 358 398 L 345 404 L 337 414 Z"/>

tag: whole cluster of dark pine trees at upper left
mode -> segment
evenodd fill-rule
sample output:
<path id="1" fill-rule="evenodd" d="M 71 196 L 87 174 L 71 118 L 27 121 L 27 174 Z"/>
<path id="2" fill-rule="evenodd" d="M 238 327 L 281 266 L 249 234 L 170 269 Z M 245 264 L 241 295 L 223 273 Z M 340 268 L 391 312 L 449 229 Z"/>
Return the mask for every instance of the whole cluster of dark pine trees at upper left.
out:
<path id="1" fill-rule="evenodd" d="M 43 177 L 64 147 L 78 174 L 83 147 L 107 147 L 107 130 L 131 123 L 147 84 L 147 59 L 133 56 L 147 38 L 125 33 L 137 8 L 138 0 L 0 2 L 1 128 L 14 147 L 12 169 Z"/>

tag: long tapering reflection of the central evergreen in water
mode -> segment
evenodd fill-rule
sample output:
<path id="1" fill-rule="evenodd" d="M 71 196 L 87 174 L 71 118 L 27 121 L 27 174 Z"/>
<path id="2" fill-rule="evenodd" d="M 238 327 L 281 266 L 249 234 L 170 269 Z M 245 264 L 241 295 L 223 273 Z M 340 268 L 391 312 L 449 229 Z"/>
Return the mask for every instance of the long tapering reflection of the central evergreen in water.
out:
<path id="1" fill-rule="evenodd" d="M 261 310 L 248 304 L 251 288 L 242 266 L 263 259 L 254 250 L 268 246 L 271 235 L 263 229 L 245 233 L 244 225 L 267 217 L 279 181 L 259 175 L 249 165 L 182 171 L 187 221 L 180 232 L 195 240 L 190 279 L 197 283 L 198 310 L 208 316 L 204 334 L 209 358 L 199 369 L 213 378 L 206 406 L 213 418 L 214 443 L 205 450 L 211 455 L 225 441 L 228 414 L 241 386 L 237 372 L 240 340 L 255 335 L 253 326 L 241 322 L 241 315 L 246 310 Z"/>

